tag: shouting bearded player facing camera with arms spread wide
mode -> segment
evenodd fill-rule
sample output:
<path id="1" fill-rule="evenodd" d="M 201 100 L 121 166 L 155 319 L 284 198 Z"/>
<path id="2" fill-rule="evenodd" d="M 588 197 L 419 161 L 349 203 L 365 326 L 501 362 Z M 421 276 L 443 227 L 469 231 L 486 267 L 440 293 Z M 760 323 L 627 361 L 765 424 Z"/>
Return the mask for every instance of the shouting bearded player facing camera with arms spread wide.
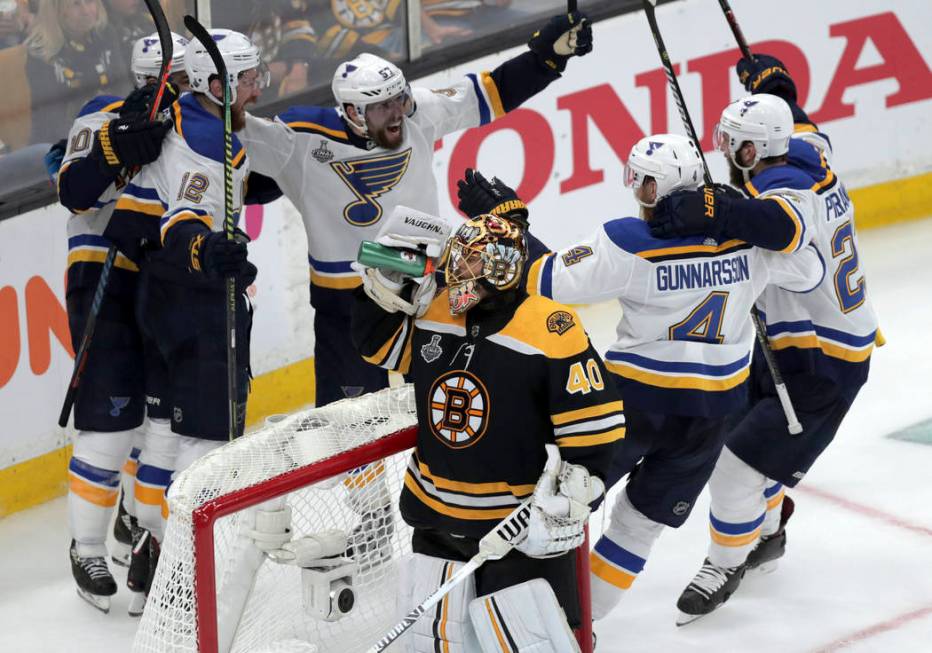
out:
<path id="1" fill-rule="evenodd" d="M 398 205 L 439 213 L 434 143 L 484 125 L 558 79 L 592 49 L 579 12 L 556 16 L 530 52 L 445 89 L 410 88 L 394 64 L 363 54 L 333 76 L 336 107 L 294 107 L 274 121 L 247 117 L 243 141 L 254 169 L 274 178 L 304 220 L 315 309 L 316 403 L 385 387 L 385 370 L 360 359 L 346 324 L 359 243 L 374 240 Z"/>

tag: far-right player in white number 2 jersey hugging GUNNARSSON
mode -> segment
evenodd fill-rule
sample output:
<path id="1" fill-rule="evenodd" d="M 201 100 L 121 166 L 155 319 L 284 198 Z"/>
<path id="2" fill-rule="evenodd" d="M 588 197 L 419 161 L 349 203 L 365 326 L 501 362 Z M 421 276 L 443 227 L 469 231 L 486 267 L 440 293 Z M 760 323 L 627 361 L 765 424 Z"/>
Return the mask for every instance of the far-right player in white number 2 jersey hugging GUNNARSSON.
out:
<path id="1" fill-rule="evenodd" d="M 782 62 L 758 55 L 739 61 L 738 72 L 754 94 L 725 108 L 716 141 L 728 159 L 732 182 L 755 199 L 725 199 L 709 220 L 695 194 L 672 196 L 667 206 L 658 207 L 662 228 L 679 234 L 714 231 L 745 240 L 781 229 L 791 233 L 785 213 L 746 208 L 768 204 L 757 200 L 768 198 L 775 188 L 808 189 L 818 198 L 812 244 L 828 273 L 810 293 L 768 288 L 758 301 L 803 433 L 787 433 L 758 351 L 750 404 L 735 419 L 709 482 L 712 541 L 701 570 L 677 603 L 679 623 L 720 606 L 747 569 L 775 567 L 793 512 L 784 486 L 794 487 L 832 441 L 867 380 L 875 341 L 883 342 L 860 269 L 854 207 L 829 166 L 828 137 L 796 104 L 796 87 Z M 774 150 L 764 134 L 777 126 L 795 134 L 786 147 Z M 758 244 L 773 249 L 784 245 L 779 238 Z"/>

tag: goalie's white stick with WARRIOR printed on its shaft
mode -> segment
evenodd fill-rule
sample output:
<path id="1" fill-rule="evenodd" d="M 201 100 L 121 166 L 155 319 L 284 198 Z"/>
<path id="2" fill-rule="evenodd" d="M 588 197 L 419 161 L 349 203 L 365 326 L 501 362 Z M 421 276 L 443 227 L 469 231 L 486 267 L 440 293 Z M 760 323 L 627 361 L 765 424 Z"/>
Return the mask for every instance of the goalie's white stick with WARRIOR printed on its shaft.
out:
<path id="1" fill-rule="evenodd" d="M 560 465 L 560 450 L 555 444 L 547 446 L 547 465 L 544 472 L 556 473 Z M 531 517 L 532 498 L 526 499 L 520 506 L 505 517 L 494 529 L 489 531 L 485 537 L 479 540 L 479 553 L 469 559 L 460 569 L 453 574 L 450 579 L 438 587 L 424 601 L 416 606 L 411 612 L 405 615 L 404 619 L 399 621 L 385 637 L 373 644 L 366 653 L 380 653 L 391 646 L 392 642 L 405 634 L 425 612 L 440 603 L 453 588 L 462 583 L 464 580 L 476 571 L 479 567 L 489 560 L 498 560 L 505 557 L 515 545 L 519 544 L 527 535 L 528 521 Z"/>

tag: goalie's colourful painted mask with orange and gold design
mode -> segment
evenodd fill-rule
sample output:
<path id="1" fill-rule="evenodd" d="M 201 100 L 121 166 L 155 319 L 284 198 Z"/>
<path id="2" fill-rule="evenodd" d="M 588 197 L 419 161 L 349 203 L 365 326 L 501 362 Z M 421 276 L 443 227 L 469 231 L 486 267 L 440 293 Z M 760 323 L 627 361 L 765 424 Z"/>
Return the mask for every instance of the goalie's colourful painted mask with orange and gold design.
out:
<path id="1" fill-rule="evenodd" d="M 477 215 L 456 230 L 444 259 L 450 313 L 465 313 L 481 301 L 480 288 L 502 292 L 521 281 L 527 260 L 524 231 L 497 215 Z"/>

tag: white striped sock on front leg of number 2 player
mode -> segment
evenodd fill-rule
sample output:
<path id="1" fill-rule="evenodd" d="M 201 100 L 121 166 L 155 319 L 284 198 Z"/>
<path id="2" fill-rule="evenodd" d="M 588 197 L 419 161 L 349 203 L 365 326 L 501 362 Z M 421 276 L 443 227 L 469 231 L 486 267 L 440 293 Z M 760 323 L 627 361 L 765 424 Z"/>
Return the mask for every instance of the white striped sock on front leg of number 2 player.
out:
<path id="1" fill-rule="evenodd" d="M 712 506 L 709 511 L 709 560 L 719 567 L 743 564 L 761 535 L 767 477 L 722 449 L 709 479 Z M 782 500 L 782 495 L 781 495 Z M 779 515 L 777 516 L 779 520 Z"/>

